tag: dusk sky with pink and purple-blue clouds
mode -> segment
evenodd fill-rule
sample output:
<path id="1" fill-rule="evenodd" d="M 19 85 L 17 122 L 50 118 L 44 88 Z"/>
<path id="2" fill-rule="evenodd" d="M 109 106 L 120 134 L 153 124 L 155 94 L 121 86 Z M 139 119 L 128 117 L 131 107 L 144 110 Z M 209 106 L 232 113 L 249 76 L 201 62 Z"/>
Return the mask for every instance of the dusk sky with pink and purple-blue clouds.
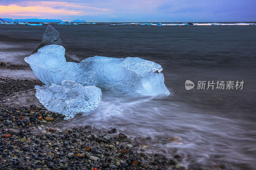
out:
<path id="1" fill-rule="evenodd" d="M 256 21 L 256 0 L 0 0 L 0 18 L 87 22 Z"/>

